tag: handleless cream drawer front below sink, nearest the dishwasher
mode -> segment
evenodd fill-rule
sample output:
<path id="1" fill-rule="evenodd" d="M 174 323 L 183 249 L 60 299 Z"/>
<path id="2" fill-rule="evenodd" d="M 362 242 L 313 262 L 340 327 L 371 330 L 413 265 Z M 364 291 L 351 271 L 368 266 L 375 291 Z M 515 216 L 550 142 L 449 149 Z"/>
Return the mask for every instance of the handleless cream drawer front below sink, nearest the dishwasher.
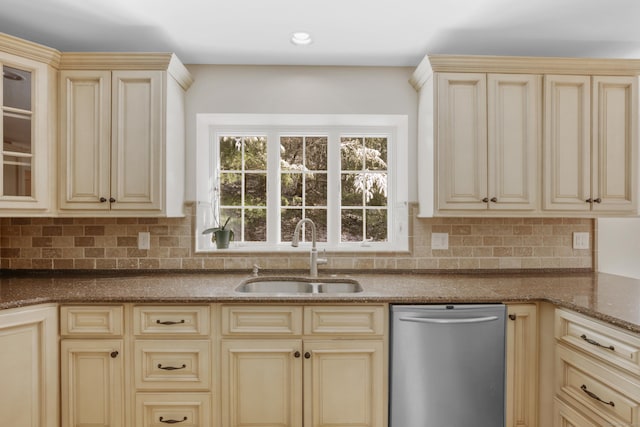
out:
<path id="1" fill-rule="evenodd" d="M 384 306 L 311 306 L 304 309 L 305 335 L 382 335 Z"/>

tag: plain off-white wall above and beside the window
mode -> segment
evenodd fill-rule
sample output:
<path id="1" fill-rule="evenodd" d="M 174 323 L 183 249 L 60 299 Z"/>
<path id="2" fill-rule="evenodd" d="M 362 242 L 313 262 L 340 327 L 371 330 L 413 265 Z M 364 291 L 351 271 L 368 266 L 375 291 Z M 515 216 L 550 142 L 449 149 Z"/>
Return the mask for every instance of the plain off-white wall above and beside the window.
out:
<path id="1" fill-rule="evenodd" d="M 409 201 L 417 200 L 418 94 L 411 67 L 188 65 L 186 198 L 195 199 L 198 113 L 404 114 L 409 118 Z"/>

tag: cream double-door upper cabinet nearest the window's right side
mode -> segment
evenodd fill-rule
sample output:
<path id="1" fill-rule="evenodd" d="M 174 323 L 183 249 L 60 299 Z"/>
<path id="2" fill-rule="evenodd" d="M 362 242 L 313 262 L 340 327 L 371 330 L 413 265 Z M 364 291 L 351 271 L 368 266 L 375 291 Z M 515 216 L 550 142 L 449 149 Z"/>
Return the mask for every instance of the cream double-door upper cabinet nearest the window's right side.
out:
<path id="1" fill-rule="evenodd" d="M 541 77 L 437 79 L 437 210 L 537 209 Z"/>

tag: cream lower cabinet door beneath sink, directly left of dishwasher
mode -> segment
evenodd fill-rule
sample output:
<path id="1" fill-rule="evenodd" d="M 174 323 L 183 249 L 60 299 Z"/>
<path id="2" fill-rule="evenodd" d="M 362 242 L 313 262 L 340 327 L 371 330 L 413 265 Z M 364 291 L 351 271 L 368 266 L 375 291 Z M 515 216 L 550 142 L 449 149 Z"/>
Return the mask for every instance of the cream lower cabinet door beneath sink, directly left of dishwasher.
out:
<path id="1" fill-rule="evenodd" d="M 305 427 L 386 424 L 382 341 L 305 341 L 304 351 Z"/>

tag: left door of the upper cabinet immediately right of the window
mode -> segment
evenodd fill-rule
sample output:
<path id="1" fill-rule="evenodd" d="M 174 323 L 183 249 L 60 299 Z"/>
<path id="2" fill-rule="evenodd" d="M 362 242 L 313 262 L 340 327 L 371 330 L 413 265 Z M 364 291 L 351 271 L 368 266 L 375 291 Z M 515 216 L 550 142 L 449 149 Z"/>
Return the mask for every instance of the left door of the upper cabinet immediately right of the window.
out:
<path id="1" fill-rule="evenodd" d="M 486 76 L 437 79 L 438 209 L 487 209 Z"/>

